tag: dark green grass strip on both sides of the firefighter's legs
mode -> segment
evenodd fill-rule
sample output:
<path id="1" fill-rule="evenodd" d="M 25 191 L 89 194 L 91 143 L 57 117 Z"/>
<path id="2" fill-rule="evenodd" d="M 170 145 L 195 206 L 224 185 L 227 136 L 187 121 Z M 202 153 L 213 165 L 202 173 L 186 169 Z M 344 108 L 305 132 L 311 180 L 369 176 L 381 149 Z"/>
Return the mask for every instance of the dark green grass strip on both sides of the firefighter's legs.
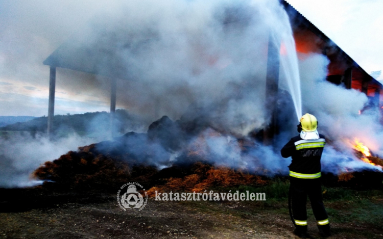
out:
<path id="1" fill-rule="evenodd" d="M 205 214 L 230 215 L 230 220 L 243 218 L 251 221 L 268 221 L 277 228 L 291 226 L 288 209 L 288 179 L 272 179 L 267 185 L 234 188 L 214 188 L 214 192 L 240 191 L 266 193 L 266 201 L 185 201 L 180 202 Z M 357 191 L 349 188 L 323 187 L 323 200 L 329 216 L 334 238 L 377 238 L 383 227 L 383 192 L 379 190 Z M 307 216 L 315 225 L 313 210 L 307 199 Z M 276 220 L 275 220 L 276 219 Z M 280 220 L 284 219 L 284 220 Z M 270 228 L 268 228 L 270 229 Z M 257 228 L 259 230 L 259 227 Z M 310 232 L 315 235 L 316 228 Z M 317 238 L 317 237 L 315 237 Z"/>

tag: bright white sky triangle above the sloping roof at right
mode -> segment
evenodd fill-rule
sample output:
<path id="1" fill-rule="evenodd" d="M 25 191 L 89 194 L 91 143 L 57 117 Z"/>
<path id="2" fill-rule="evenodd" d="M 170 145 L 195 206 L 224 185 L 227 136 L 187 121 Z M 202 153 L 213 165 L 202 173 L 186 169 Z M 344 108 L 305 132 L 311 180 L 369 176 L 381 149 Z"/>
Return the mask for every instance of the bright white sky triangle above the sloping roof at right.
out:
<path id="1" fill-rule="evenodd" d="M 287 0 L 367 73 L 383 81 L 383 1 Z"/>

